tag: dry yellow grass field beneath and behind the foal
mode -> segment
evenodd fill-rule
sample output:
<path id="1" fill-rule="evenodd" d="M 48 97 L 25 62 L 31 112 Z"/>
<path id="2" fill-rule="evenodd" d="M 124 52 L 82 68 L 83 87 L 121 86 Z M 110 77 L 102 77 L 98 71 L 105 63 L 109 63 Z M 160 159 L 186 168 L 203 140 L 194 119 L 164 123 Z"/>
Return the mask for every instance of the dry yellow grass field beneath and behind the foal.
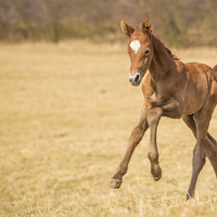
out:
<path id="1" fill-rule="evenodd" d="M 208 161 L 195 199 L 184 201 L 195 141 L 179 119 L 159 124 L 163 178 L 150 174 L 146 132 L 122 188 L 110 189 L 143 104 L 128 81 L 126 46 L 0 48 L 0 216 L 216 216 Z M 171 50 L 183 62 L 217 64 L 217 49 Z M 217 138 L 217 113 L 209 131 Z"/>

